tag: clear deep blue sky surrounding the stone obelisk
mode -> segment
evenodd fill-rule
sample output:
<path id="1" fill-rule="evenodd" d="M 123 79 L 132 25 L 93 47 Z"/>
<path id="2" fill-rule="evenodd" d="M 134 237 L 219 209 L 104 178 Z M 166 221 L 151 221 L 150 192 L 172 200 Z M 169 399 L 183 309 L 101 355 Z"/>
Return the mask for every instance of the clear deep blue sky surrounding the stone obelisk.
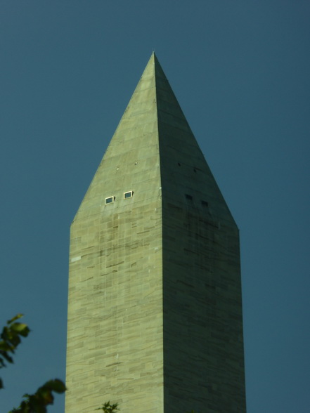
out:
<path id="1" fill-rule="evenodd" d="M 309 0 L 0 0 L 0 412 L 65 379 L 70 223 L 153 50 L 240 228 L 247 412 L 308 413 Z"/>

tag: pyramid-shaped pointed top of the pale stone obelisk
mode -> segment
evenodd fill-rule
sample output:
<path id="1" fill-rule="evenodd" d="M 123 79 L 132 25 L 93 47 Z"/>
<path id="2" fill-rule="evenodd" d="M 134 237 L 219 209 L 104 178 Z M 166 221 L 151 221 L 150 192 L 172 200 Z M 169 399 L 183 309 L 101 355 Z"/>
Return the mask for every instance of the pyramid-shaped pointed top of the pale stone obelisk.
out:
<path id="1" fill-rule="evenodd" d="M 121 196 L 137 185 L 136 201 L 149 198 L 150 191 L 161 190 L 163 202 L 184 206 L 186 192 L 193 199 L 192 206 L 201 207 L 206 199 L 209 214 L 224 214 L 226 219 L 232 219 L 155 53 L 138 81 L 77 215 L 82 211 L 94 214 L 105 197 L 116 196 L 116 192 Z"/>

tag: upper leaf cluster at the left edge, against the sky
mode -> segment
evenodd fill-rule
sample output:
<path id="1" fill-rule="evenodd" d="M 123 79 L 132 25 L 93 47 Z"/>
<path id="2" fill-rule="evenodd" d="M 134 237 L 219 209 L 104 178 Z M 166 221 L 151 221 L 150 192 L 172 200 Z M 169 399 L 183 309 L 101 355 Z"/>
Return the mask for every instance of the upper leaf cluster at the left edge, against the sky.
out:
<path id="1" fill-rule="evenodd" d="M 6 367 L 6 362 L 13 363 L 13 358 L 10 355 L 15 353 L 15 349 L 21 343 L 20 337 L 27 337 L 30 329 L 27 324 L 15 322 L 22 314 L 15 315 L 11 320 L 8 320 L 6 326 L 2 330 L 0 336 L 0 368 Z M 3 388 L 3 382 L 0 379 L 0 388 Z"/>

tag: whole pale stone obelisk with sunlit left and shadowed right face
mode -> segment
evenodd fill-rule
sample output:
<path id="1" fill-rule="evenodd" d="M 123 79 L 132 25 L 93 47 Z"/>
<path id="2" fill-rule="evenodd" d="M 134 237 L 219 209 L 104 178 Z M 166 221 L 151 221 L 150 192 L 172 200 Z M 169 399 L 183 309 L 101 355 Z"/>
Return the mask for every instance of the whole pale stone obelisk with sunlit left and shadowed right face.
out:
<path id="1" fill-rule="evenodd" d="M 245 412 L 238 228 L 153 53 L 71 225 L 66 413 Z"/>

